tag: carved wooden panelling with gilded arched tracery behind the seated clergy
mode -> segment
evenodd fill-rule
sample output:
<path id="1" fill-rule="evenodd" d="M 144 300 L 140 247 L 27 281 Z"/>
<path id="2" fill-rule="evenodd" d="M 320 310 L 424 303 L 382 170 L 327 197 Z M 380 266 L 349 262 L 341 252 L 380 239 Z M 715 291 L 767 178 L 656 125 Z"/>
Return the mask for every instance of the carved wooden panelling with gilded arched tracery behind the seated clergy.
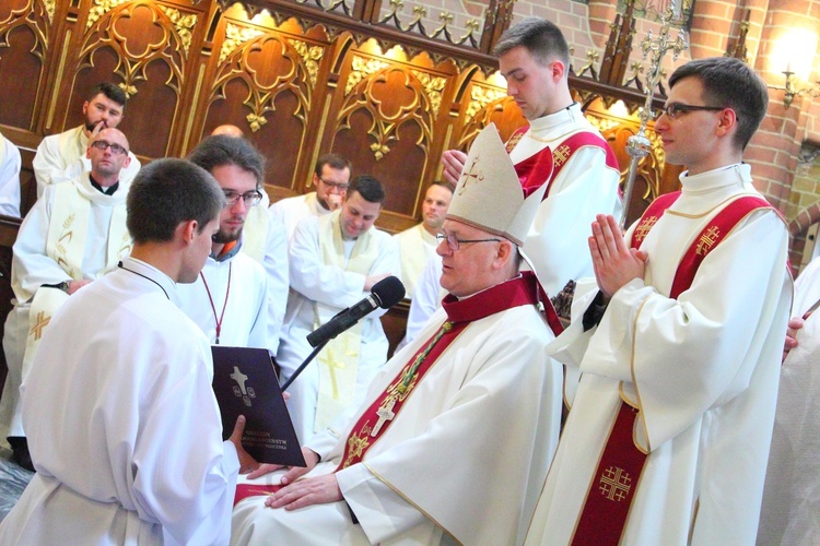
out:
<path id="1" fill-rule="evenodd" d="M 423 190 L 441 178 L 445 150 L 468 150 L 490 122 L 504 139 L 526 123 L 489 75 L 484 54 L 423 50 L 419 44 L 430 40 L 417 44 L 412 33 L 390 34 L 403 46 L 376 41 L 341 15 L 306 16 L 279 2 L 248 16 L 215 0 L 56 0 L 49 20 L 39 1 L 10 0 L 12 9 L 0 9 L 0 33 L 13 49 L 3 51 L 0 40 L 0 75 L 27 74 L 30 91 L 0 88 L 3 104 L 13 104 L 0 109 L 0 123 L 19 129 L 10 134 L 17 144 L 34 147 L 43 135 L 81 123 L 89 90 L 114 81 L 130 94 L 120 129 L 142 159 L 185 155 L 218 124 L 233 123 L 268 157 L 276 201 L 311 191 L 316 158 L 341 153 L 354 174 L 385 183 L 378 225 L 399 232 L 419 222 Z M 34 14 L 26 19 L 24 9 Z M 571 83 L 585 96 L 607 91 L 574 76 Z M 613 96 L 643 100 L 634 90 Z M 626 118 L 617 123 L 622 130 L 608 139 L 622 146 L 633 126 Z M 664 179 L 658 166 L 647 167 L 647 183 Z"/>

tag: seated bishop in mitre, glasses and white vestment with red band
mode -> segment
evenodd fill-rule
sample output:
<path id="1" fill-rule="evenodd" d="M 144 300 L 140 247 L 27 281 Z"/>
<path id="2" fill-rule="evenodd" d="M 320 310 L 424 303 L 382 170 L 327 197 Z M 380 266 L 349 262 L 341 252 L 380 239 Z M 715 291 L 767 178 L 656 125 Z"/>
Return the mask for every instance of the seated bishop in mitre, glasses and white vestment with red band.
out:
<path id="1" fill-rule="evenodd" d="M 351 419 L 307 442 L 307 468 L 262 465 L 237 486 L 284 487 L 236 505 L 232 544 L 523 541 L 561 420 L 561 367 L 544 352 L 554 335 L 535 276 L 519 273 L 542 190 L 525 200 L 494 126 L 473 157 L 482 176 L 459 182 L 436 249 L 443 309 Z"/>

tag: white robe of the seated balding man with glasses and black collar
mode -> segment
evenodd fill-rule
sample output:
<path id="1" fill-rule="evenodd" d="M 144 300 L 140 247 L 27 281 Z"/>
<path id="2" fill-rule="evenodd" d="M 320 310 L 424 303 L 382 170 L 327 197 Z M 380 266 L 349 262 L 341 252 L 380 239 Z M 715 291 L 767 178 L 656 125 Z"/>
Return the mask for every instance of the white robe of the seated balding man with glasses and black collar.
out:
<path id="1" fill-rule="evenodd" d="M 109 252 L 109 235 L 125 232 L 125 207 L 129 182 L 120 182 L 117 191 L 105 195 L 91 186 L 89 173 L 82 173 L 70 182 L 90 203 L 89 223 L 85 227 L 85 251 L 79 266 L 81 278 L 96 280 L 116 266 L 119 256 Z M 63 187 L 65 188 L 65 187 Z M 47 239 L 57 187 L 49 187 L 34 204 L 20 226 L 13 247 L 11 281 L 14 289 L 14 308 L 9 312 L 3 333 L 3 349 L 9 364 L 9 376 L 0 397 L 0 437 L 25 436 L 20 422 L 17 389 L 22 382 L 23 357 L 28 332 L 31 299 L 43 285 L 56 285 L 72 280 L 71 275 L 47 251 Z M 54 213 L 56 214 L 56 213 Z M 59 214 L 57 215 L 61 217 Z M 120 223 L 113 225 L 113 223 Z M 75 234 L 74 237 L 80 237 Z M 73 265 L 73 264 L 72 264 Z M 79 278 L 78 278 L 79 280 Z M 8 428 L 9 434 L 3 434 Z"/>

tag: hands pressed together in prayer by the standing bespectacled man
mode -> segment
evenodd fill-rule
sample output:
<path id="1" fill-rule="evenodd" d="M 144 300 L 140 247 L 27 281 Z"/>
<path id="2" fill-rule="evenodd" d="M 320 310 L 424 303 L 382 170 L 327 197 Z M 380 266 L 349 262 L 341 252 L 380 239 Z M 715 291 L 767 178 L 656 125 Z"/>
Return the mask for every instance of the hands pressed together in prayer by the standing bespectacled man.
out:
<path id="1" fill-rule="evenodd" d="M 598 288 L 607 301 L 633 278 L 643 278 L 646 252 L 630 248 L 612 215 L 598 214 L 593 222 L 589 252 Z"/>

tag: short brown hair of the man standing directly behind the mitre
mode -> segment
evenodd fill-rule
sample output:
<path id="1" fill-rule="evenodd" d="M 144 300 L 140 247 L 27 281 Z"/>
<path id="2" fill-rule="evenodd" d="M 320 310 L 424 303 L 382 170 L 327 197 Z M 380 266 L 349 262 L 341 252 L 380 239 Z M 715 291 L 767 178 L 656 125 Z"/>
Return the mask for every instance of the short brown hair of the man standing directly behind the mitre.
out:
<path id="1" fill-rule="evenodd" d="M 493 54 L 501 57 L 513 48 L 523 46 L 540 64 L 558 59 L 570 67 L 570 46 L 561 28 L 554 23 L 539 17 L 527 17 L 511 26 L 501 35 Z"/>

